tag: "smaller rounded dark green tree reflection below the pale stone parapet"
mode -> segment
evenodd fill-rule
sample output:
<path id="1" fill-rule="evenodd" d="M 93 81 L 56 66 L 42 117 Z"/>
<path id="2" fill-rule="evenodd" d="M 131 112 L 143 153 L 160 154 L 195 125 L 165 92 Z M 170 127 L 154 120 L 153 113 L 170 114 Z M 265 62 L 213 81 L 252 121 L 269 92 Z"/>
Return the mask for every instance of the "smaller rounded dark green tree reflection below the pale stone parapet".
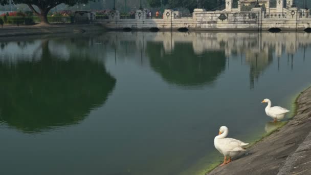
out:
<path id="1" fill-rule="evenodd" d="M 212 83 L 226 67 L 225 53 L 193 52 L 191 43 L 175 43 L 171 53 L 163 51 L 159 42 L 147 42 L 146 53 L 153 70 L 169 83 L 180 86 L 199 86 Z"/>

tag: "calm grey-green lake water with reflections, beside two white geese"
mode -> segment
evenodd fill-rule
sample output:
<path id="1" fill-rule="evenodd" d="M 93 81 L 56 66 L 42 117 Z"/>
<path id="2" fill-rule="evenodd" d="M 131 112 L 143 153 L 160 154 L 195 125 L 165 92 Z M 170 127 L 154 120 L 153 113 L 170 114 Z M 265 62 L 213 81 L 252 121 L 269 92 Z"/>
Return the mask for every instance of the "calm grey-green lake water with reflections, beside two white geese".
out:
<path id="1" fill-rule="evenodd" d="M 259 139 L 310 77 L 308 33 L 1 38 L 0 174 L 204 174 L 221 125 Z"/>

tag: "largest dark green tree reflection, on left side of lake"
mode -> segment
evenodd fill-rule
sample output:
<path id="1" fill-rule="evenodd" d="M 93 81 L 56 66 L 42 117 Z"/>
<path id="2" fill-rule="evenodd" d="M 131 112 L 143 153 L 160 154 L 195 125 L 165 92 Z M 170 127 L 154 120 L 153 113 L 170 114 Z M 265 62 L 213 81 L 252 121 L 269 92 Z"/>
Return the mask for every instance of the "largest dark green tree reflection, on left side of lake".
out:
<path id="1" fill-rule="evenodd" d="M 18 47 L 27 46 L 23 43 Z M 114 89 L 115 78 L 90 57 L 56 56 L 49 40 L 43 40 L 32 54 L 40 56 L 32 60 L 28 55 L 12 63 L 14 54 L 7 54 L 9 59 L 0 62 L 0 120 L 23 132 L 77 123 Z"/>

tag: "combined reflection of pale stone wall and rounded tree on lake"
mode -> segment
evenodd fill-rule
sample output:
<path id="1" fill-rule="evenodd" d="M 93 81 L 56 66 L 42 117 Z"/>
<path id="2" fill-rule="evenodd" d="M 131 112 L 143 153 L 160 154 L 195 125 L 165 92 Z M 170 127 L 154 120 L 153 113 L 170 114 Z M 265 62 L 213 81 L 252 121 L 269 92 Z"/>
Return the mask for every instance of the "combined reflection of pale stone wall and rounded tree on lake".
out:
<path id="1" fill-rule="evenodd" d="M 146 65 L 150 65 L 164 80 L 177 86 L 212 84 L 226 67 L 230 68 L 230 59 L 239 57 L 241 64 L 249 66 L 251 89 L 273 59 L 278 61 L 277 69 L 280 70 L 281 57 L 288 55 L 288 65 L 294 69 L 294 54 L 311 44 L 309 33 L 293 32 L 109 32 L 102 39 L 116 49 L 120 58 L 124 58 L 124 53 L 136 54 L 140 58 L 136 61 L 142 64 L 145 60 L 148 62 Z M 124 47 L 132 52 L 124 52 Z M 218 65 L 208 63 L 216 60 Z"/>

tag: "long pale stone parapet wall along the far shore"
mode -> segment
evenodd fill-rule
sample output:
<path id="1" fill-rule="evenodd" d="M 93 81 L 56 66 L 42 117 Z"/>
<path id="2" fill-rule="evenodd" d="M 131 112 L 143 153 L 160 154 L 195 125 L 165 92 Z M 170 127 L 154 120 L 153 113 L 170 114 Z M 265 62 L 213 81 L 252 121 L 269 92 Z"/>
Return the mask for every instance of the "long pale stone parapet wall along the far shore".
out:
<path id="1" fill-rule="evenodd" d="M 231 0 L 227 0 L 231 2 Z M 265 0 L 260 2 L 264 3 Z M 307 10 L 303 14 L 309 14 Z M 117 12 L 116 12 L 117 13 Z M 183 17 L 179 12 L 166 9 L 161 19 L 147 19 L 146 13 L 138 10 L 136 19 L 118 19 L 118 16 L 109 16 L 109 19 L 100 20 L 105 27 L 110 29 L 150 29 L 171 30 L 187 28 L 189 30 L 269 30 L 280 28 L 281 30 L 304 30 L 310 27 L 311 16 L 302 16 L 302 11 L 297 8 L 270 8 L 263 12 L 262 8 L 253 8 L 250 11 L 206 11 L 194 9 L 191 16 Z"/>

